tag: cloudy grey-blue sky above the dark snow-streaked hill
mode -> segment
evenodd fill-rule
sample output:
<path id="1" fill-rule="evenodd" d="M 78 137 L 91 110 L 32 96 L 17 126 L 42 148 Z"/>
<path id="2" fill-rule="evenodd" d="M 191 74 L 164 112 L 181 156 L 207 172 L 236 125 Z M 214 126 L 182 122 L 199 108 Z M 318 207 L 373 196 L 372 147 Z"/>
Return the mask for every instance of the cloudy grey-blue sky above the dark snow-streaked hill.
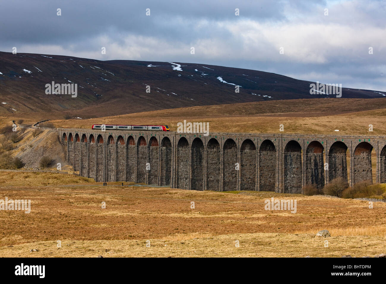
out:
<path id="1" fill-rule="evenodd" d="M 14 46 L 18 53 L 204 63 L 386 91 L 385 0 L 3 0 L 0 50 Z"/>

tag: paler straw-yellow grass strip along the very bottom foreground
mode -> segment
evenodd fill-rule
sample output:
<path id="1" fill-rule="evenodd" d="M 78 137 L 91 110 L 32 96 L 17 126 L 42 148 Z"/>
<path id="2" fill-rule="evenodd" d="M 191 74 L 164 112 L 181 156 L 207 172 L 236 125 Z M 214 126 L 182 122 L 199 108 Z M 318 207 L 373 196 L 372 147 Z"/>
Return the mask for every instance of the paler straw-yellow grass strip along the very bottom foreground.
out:
<path id="1" fill-rule="evenodd" d="M 239 241 L 239 247 L 235 241 Z M 328 247 L 325 247 L 328 240 Z M 146 247 L 150 241 L 150 247 Z M 314 234 L 252 233 L 183 238 L 179 240 L 62 240 L 1 247 L 4 257 L 356 257 L 385 250 L 384 238 L 374 236 L 316 237 Z M 30 252 L 37 249 L 38 252 Z"/>

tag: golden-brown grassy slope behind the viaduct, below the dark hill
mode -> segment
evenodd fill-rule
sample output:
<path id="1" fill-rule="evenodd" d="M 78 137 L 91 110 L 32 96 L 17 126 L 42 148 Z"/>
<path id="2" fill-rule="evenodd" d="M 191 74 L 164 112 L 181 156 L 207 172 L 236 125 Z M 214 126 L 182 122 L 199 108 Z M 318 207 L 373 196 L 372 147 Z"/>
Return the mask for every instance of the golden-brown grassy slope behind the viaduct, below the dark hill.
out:
<path id="1" fill-rule="evenodd" d="M 129 110 L 128 110 L 129 111 Z M 98 114 L 97 109 L 95 114 Z M 58 114 L 57 117 L 62 117 Z M 310 134 L 371 134 L 385 135 L 386 99 L 296 99 L 223 104 L 161 111 L 138 112 L 119 116 L 87 119 L 57 119 L 41 114 L 3 116 L 0 122 L 9 124 L 13 119 L 24 119 L 34 123 L 51 119 L 62 128 L 91 128 L 92 124 L 163 124 L 176 131 L 177 122 L 209 122 L 211 132 L 278 133 L 279 124 L 284 124 L 283 133 Z M 374 126 L 369 132 L 369 124 Z"/>

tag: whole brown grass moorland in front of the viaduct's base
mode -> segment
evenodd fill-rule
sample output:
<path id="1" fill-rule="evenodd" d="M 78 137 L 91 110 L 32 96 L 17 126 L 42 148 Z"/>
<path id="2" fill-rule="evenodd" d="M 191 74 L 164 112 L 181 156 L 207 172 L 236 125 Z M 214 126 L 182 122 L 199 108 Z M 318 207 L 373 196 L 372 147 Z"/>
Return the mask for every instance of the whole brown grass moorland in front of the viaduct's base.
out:
<path id="1" fill-rule="evenodd" d="M 2 172 L 0 199 L 30 199 L 31 212 L 0 211 L 0 255 L 362 257 L 386 251 L 384 202 L 369 209 L 366 201 L 325 196 L 120 185 L 60 173 Z M 271 197 L 296 199 L 297 212 L 264 210 Z M 330 238 L 315 236 L 323 229 Z"/>

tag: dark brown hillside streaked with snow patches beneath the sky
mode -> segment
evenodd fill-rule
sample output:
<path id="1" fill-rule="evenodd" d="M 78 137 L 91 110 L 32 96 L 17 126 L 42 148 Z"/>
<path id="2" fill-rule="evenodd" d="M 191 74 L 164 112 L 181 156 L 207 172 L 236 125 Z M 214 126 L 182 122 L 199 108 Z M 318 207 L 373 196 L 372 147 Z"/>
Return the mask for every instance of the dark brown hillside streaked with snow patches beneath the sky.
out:
<path id="1" fill-rule="evenodd" d="M 195 63 L 99 61 L 59 55 L 0 52 L 0 115 L 90 118 L 200 105 L 328 97 L 310 83 L 256 70 Z M 77 83 L 78 96 L 45 93 L 46 84 Z M 150 93 L 146 93 L 150 85 Z M 235 93 L 235 85 L 240 92 Z M 344 98 L 383 92 L 344 88 Z M 330 95 L 331 97 L 331 95 Z"/>

